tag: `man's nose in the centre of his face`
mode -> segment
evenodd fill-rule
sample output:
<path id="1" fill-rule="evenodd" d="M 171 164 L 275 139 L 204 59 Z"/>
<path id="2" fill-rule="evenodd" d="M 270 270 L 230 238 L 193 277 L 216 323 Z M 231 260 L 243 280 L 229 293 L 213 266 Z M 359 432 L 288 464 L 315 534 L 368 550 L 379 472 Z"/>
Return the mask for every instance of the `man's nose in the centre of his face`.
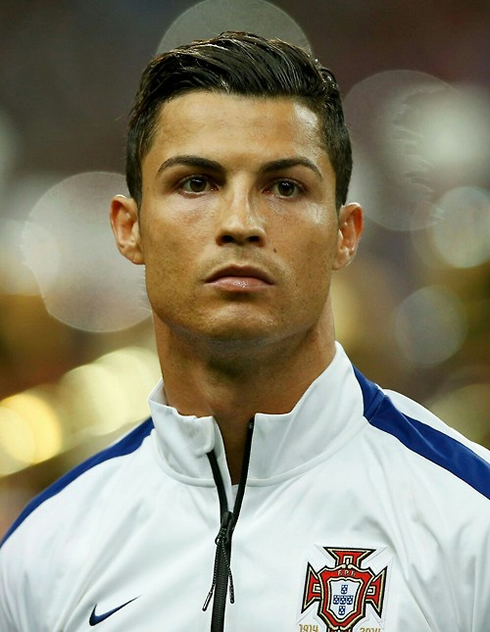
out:
<path id="1" fill-rule="evenodd" d="M 223 196 L 217 216 L 218 245 L 265 245 L 264 217 L 254 193 L 230 191 L 229 195 Z"/>

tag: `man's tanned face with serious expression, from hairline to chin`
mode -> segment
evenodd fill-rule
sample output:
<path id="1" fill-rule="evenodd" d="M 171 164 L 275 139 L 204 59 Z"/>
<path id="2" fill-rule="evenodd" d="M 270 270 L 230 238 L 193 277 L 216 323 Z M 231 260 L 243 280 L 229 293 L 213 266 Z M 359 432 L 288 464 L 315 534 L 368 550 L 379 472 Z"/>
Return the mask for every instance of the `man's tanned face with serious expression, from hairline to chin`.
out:
<path id="1" fill-rule="evenodd" d="M 263 343 L 317 326 L 347 263 L 321 139 L 316 114 L 289 98 L 196 91 L 164 104 L 129 254 L 146 266 L 157 330 Z"/>

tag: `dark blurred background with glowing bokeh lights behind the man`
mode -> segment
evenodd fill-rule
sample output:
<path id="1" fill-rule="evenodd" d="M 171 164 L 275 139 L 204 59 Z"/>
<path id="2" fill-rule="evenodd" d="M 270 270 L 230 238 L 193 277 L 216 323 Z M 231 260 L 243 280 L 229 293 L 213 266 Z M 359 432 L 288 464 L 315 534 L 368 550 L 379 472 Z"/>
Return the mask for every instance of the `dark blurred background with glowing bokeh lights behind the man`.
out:
<path id="1" fill-rule="evenodd" d="M 107 211 L 141 71 L 194 4 L 0 5 L 0 534 L 148 414 L 151 321 Z M 488 0 L 275 5 L 334 71 L 352 130 L 367 219 L 335 280 L 338 338 L 371 379 L 490 447 Z"/>

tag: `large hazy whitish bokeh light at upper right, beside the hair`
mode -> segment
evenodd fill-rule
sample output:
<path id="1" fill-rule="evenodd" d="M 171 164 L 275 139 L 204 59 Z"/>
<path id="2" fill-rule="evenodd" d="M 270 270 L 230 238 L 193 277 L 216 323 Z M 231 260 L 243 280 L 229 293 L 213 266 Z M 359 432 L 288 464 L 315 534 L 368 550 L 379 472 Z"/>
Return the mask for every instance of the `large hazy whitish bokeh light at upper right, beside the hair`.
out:
<path id="1" fill-rule="evenodd" d="M 355 157 L 351 196 L 381 226 L 430 226 L 448 186 L 489 175 L 490 98 L 483 90 L 391 70 L 356 84 L 345 113 Z"/>

